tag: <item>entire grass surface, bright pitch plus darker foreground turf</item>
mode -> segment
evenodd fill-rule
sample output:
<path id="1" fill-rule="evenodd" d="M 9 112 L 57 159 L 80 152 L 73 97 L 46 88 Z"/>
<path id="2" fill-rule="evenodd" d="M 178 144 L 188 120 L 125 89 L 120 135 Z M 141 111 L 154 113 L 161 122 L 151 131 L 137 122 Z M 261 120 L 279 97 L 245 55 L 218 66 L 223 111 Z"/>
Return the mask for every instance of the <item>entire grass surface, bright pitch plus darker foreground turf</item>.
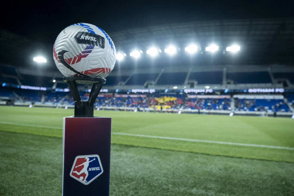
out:
<path id="1" fill-rule="evenodd" d="M 61 195 L 62 118 L 73 113 L 0 107 L 0 195 Z M 293 119 L 94 115 L 112 117 L 110 195 L 294 195 Z"/>

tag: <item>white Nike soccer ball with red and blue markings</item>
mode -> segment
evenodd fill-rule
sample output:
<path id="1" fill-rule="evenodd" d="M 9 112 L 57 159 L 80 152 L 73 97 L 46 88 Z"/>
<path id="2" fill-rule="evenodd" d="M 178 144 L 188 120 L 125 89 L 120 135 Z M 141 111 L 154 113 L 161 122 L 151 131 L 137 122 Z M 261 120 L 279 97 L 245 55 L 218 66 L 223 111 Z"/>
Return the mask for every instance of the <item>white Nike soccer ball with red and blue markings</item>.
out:
<path id="1" fill-rule="evenodd" d="M 87 23 L 73 24 L 61 31 L 55 40 L 53 55 L 64 76 L 106 78 L 116 61 L 115 46 L 108 34 Z"/>

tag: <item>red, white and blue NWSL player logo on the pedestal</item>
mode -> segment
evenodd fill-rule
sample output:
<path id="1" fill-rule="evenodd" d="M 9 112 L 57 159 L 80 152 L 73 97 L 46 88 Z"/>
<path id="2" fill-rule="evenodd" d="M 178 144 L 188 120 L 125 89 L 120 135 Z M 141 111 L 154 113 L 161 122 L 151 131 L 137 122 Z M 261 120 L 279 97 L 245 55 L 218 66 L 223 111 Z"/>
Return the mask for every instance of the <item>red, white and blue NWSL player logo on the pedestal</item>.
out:
<path id="1" fill-rule="evenodd" d="M 70 176 L 84 185 L 90 184 L 103 173 L 99 155 L 77 156 L 71 168 Z"/>

